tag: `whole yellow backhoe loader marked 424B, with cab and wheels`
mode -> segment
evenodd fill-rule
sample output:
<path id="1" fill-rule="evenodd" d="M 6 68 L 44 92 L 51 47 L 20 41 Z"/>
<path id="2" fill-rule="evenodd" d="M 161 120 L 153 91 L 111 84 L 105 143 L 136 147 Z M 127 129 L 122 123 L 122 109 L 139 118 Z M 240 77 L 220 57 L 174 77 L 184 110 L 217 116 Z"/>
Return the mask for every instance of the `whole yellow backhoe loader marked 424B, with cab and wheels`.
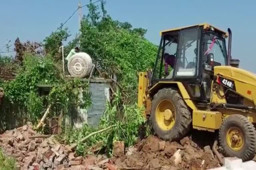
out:
<path id="1" fill-rule="evenodd" d="M 227 156 L 251 160 L 256 75 L 232 59 L 231 30 L 203 23 L 160 35 L 155 66 L 139 73 L 138 85 L 138 107 L 146 108 L 154 132 L 170 141 L 180 140 L 190 128 L 218 132 Z"/>

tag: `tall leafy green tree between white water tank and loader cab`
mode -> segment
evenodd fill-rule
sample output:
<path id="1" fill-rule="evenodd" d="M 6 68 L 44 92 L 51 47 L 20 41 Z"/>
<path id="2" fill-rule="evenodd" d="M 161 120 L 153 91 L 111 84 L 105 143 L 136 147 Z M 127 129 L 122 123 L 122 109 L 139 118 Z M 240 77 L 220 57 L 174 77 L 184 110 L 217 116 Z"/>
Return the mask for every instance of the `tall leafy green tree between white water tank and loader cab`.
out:
<path id="1" fill-rule="evenodd" d="M 91 1 L 88 5 L 88 15 L 81 23 L 81 50 L 91 55 L 102 72 L 117 77 L 120 90 L 125 92 L 123 99 L 130 103 L 136 98 L 137 74 L 153 67 L 157 48 L 144 38 L 145 29 L 112 20 L 104 3 L 101 12 Z"/>

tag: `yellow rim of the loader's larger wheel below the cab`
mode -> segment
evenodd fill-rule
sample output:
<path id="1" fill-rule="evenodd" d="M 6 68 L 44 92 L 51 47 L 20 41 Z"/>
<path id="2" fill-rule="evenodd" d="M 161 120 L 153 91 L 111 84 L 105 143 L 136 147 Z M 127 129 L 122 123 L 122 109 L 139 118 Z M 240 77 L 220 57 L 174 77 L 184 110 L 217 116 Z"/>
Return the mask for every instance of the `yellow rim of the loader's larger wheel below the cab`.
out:
<path id="1" fill-rule="evenodd" d="M 173 128 L 176 119 L 175 107 L 169 100 L 162 100 L 156 107 L 156 122 L 162 130 Z"/>

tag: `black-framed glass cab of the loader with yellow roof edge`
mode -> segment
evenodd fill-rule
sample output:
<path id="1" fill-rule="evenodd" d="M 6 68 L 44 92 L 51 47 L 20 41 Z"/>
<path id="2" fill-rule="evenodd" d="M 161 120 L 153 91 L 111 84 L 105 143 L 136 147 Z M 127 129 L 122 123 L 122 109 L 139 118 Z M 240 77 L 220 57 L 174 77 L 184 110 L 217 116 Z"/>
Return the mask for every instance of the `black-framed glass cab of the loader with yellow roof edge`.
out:
<path id="1" fill-rule="evenodd" d="M 193 100 L 207 103 L 213 67 L 228 64 L 226 36 L 207 24 L 163 31 L 152 85 L 160 81 L 183 82 Z M 174 56 L 174 64 L 168 63 L 165 56 Z"/>

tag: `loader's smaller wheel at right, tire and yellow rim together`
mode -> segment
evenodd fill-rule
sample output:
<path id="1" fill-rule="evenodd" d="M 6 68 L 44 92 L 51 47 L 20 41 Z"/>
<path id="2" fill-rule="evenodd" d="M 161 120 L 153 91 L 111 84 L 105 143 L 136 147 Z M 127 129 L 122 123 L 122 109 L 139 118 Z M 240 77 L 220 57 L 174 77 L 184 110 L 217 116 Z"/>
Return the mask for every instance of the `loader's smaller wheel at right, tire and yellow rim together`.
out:
<path id="1" fill-rule="evenodd" d="M 226 156 L 236 156 L 247 161 L 255 155 L 256 130 L 242 115 L 232 115 L 224 119 L 219 129 L 219 141 Z"/>

